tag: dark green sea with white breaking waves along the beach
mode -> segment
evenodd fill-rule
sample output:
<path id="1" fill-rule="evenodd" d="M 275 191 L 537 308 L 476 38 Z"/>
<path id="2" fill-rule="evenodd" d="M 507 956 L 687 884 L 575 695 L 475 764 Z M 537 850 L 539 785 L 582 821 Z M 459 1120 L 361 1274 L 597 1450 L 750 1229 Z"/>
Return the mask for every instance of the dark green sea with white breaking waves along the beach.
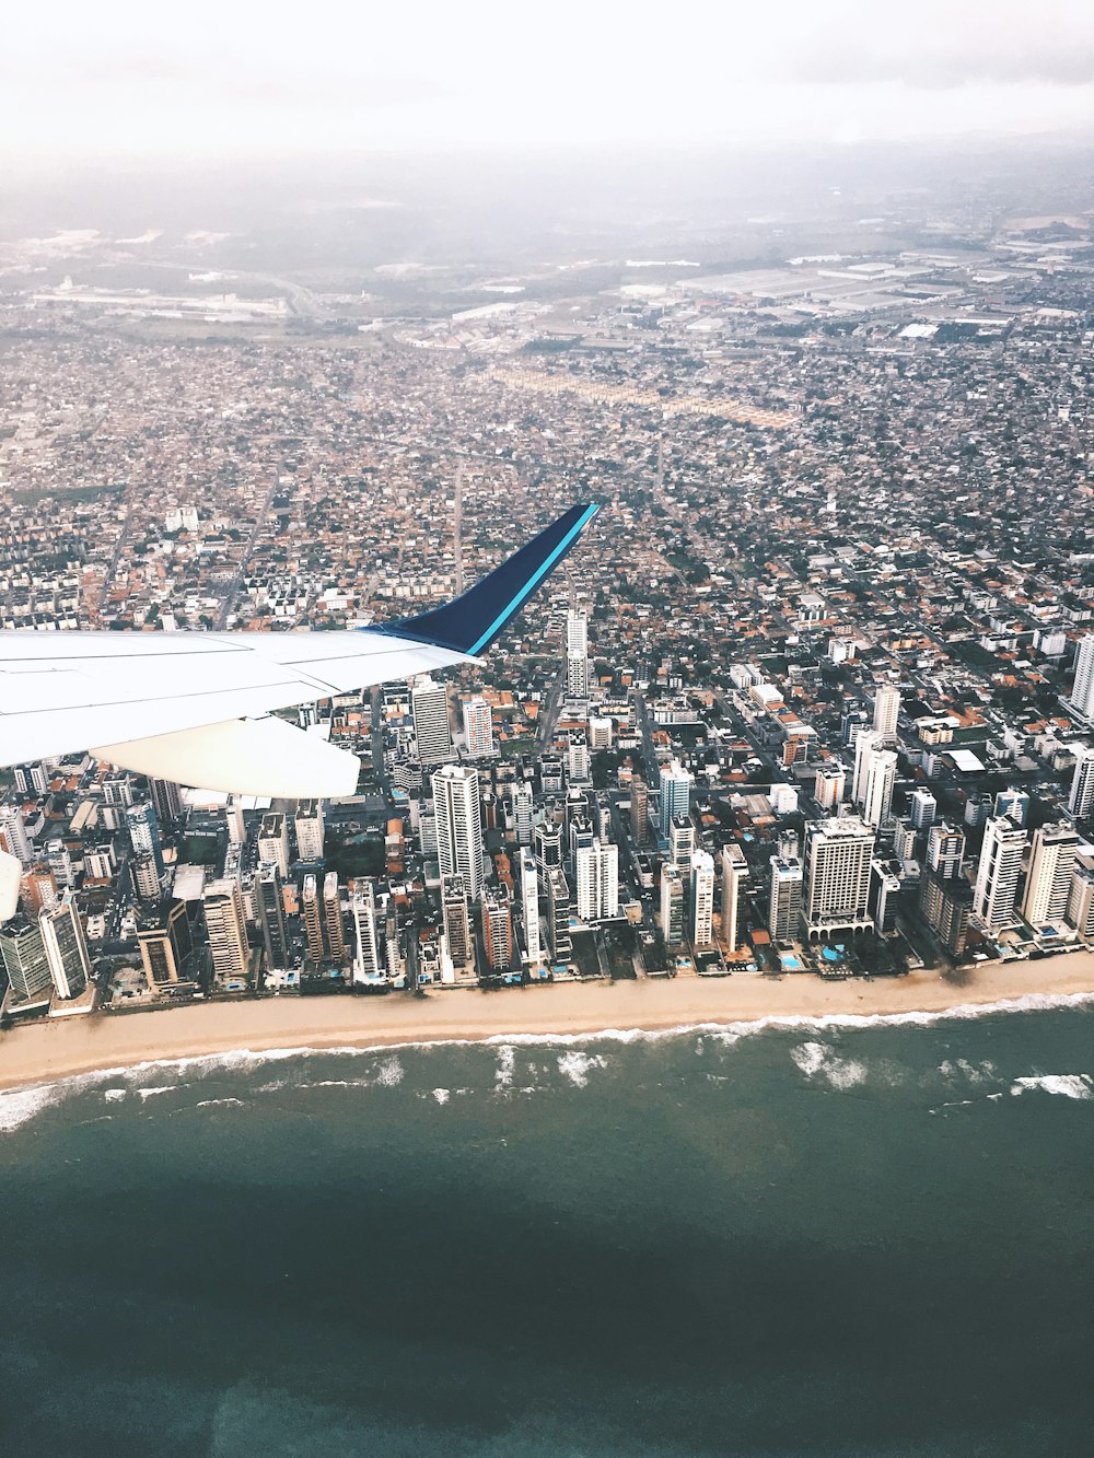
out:
<path id="1" fill-rule="evenodd" d="M 0 1098 L 0 1451 L 1090 1454 L 1093 1032 L 241 1057 Z"/>

